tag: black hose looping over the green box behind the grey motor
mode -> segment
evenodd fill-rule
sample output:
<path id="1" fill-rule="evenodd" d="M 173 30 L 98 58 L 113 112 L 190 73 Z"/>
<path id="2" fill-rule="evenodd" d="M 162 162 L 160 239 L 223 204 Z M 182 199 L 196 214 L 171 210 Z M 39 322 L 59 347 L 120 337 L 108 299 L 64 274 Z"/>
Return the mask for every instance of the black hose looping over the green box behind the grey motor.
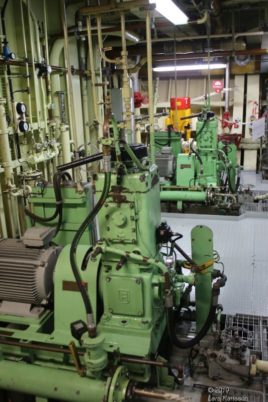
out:
<path id="1" fill-rule="evenodd" d="M 48 218 L 39 217 L 38 215 L 31 213 L 26 208 L 24 210 L 26 215 L 30 216 L 35 221 L 39 221 L 39 222 L 51 222 L 54 219 L 56 219 L 57 216 L 59 215 L 59 220 L 58 220 L 58 224 L 56 227 L 56 234 L 59 232 L 59 229 L 60 229 L 61 223 L 62 223 L 62 202 L 63 202 L 63 200 L 62 200 L 62 195 L 61 195 L 60 182 L 64 176 L 66 176 L 69 180 L 72 180 L 72 177 L 68 172 L 60 172 L 60 173 L 57 172 L 54 174 L 54 177 L 53 177 L 53 187 L 54 187 L 55 198 L 56 198 L 56 210 L 51 217 L 48 217 Z"/>

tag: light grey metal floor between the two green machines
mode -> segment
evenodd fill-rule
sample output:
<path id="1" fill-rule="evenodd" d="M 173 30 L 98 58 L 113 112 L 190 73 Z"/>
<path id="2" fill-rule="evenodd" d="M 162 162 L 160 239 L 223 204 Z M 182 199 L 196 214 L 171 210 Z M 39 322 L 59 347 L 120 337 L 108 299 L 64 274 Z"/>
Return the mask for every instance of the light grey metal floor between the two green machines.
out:
<path id="1" fill-rule="evenodd" d="M 268 184 L 261 183 L 254 172 L 243 172 L 241 182 L 268 192 Z M 190 255 L 191 230 L 207 225 L 213 231 L 214 250 L 219 252 L 228 278 L 219 299 L 225 314 L 268 316 L 268 213 L 234 218 L 162 214 L 162 218 L 174 232 L 184 235 L 180 246 Z"/>

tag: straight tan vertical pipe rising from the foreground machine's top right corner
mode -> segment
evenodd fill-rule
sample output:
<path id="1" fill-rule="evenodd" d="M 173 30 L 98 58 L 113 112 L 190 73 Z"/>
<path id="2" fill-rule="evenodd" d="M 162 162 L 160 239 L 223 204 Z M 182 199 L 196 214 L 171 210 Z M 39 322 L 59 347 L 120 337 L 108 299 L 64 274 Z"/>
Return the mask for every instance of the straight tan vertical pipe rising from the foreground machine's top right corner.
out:
<path id="1" fill-rule="evenodd" d="M 149 92 L 149 122 L 150 122 L 150 151 L 151 161 L 155 163 L 154 120 L 153 120 L 153 77 L 152 77 L 152 41 L 150 10 L 146 10 L 146 39 L 147 39 L 147 68 Z"/>

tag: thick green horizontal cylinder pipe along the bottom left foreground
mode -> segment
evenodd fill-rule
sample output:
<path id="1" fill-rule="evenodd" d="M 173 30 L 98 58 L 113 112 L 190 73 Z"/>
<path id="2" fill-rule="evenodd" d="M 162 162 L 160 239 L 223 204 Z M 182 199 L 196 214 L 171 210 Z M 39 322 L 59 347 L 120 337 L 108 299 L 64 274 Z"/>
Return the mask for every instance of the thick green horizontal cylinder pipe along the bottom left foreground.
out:
<path id="1" fill-rule="evenodd" d="M 106 389 L 104 380 L 80 377 L 76 371 L 9 360 L 0 361 L 0 381 L 3 389 L 66 402 L 101 401 Z"/>

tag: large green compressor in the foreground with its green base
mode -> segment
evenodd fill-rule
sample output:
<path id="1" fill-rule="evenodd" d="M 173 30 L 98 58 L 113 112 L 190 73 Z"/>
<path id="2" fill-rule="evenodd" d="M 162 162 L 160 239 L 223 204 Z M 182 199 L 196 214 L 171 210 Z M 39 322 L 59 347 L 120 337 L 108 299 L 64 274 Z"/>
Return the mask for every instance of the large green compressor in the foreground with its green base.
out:
<path id="1" fill-rule="evenodd" d="M 174 374 L 169 370 L 177 369 L 180 384 L 184 373 L 182 366 L 172 365 L 161 355 L 167 337 L 177 347 L 189 348 L 211 331 L 219 289 L 226 281 L 225 275 L 213 269 L 211 230 L 193 229 L 192 258 L 188 256 L 177 244 L 182 235 L 161 222 L 158 169 L 150 164 L 146 148 L 128 146 L 116 136 L 104 136 L 101 142 L 104 173 L 96 177 L 97 204 L 71 245 L 61 250 L 51 244 L 46 227 L 32 228 L 17 257 L 5 268 L 4 252 L 9 255 L 9 250 L 5 241 L 0 242 L 0 275 L 6 282 L 14 280 L 14 264 L 32 272 L 29 283 L 40 291 L 42 279 L 35 276 L 39 264 L 52 287 L 46 297 L 35 300 L 32 308 L 42 305 L 43 311 L 31 317 L 23 311 L 20 316 L 16 313 L 16 303 L 29 303 L 29 296 L 20 292 L 20 286 L 25 287 L 23 279 L 17 280 L 13 296 L 5 296 L 0 284 L 0 298 L 15 303 L 15 314 L 12 309 L 1 314 L 0 306 L 2 389 L 34 394 L 37 400 L 123 402 L 140 395 L 138 382 L 147 383 L 155 375 L 155 385 L 170 391 Z M 78 244 L 97 213 L 98 242 Z M 41 240 L 36 242 L 38 233 Z M 16 244 L 11 246 L 16 249 Z M 173 260 L 174 249 L 183 260 Z M 29 264 L 31 253 L 38 263 Z M 55 258 L 45 262 L 45 253 L 56 253 L 55 268 Z M 173 314 L 189 306 L 193 286 L 197 335 L 184 342 L 177 338 Z M 159 395 L 181 400 L 167 392 Z"/>

